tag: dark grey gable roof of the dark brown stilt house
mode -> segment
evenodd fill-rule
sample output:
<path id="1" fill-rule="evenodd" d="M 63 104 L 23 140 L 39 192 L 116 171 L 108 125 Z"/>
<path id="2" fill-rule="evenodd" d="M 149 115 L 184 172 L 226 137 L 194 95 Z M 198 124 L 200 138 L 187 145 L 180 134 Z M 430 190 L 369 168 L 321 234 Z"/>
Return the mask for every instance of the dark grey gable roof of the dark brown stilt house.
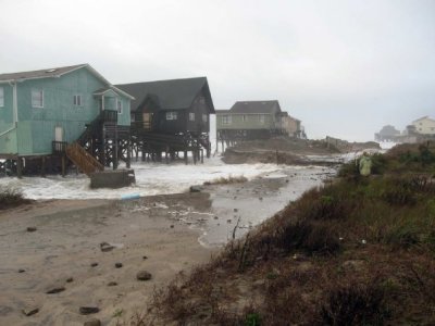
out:
<path id="1" fill-rule="evenodd" d="M 206 100 L 211 108 L 211 113 L 214 113 L 207 77 L 122 84 L 115 86 L 135 97 L 136 100 L 132 101 L 130 105 L 132 111 L 136 111 L 148 98 L 159 103 L 159 108 L 162 110 L 188 109 L 202 88 L 206 88 Z"/>

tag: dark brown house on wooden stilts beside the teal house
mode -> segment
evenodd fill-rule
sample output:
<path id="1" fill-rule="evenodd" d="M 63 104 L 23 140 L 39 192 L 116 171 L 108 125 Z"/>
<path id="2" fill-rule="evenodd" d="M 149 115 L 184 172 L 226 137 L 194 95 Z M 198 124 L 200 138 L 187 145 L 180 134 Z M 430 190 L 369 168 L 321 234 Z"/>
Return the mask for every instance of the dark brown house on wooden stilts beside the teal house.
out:
<path id="1" fill-rule="evenodd" d="M 213 101 L 206 77 L 116 85 L 132 95 L 132 145 L 138 159 L 194 162 L 210 156 Z"/>

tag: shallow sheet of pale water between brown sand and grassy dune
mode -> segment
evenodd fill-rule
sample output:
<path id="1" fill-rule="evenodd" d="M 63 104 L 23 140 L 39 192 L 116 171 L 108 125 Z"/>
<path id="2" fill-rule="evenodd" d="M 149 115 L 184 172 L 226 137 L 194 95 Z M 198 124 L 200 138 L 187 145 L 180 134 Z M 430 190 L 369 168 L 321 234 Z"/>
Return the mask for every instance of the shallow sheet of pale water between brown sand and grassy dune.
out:
<path id="1" fill-rule="evenodd" d="M 244 184 L 219 187 L 211 195 L 213 214 L 208 218 L 199 242 L 206 247 L 223 246 L 233 238 L 237 221 L 236 238 L 259 225 L 304 191 L 320 186 L 335 175 L 325 167 L 283 167 L 278 173 Z"/>

